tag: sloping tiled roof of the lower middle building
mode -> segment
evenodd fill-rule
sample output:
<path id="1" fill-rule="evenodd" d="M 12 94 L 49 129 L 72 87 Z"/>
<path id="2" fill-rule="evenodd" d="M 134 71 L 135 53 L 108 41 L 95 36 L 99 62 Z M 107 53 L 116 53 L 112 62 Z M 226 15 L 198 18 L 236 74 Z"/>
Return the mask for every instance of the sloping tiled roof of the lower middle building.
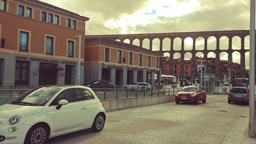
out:
<path id="1" fill-rule="evenodd" d="M 140 51 L 144 51 L 146 53 L 154 53 L 154 54 L 162 55 L 162 53 L 159 53 L 158 51 L 148 50 L 146 48 L 141 48 L 137 45 L 131 45 L 131 44 L 127 44 L 124 42 L 118 42 L 118 41 L 108 39 L 108 38 L 93 37 L 93 38 L 86 38 L 86 40 L 85 40 L 86 44 L 94 43 L 94 42 L 102 42 L 102 43 L 109 44 L 109 45 L 116 45 L 117 47 L 129 48 L 131 50 L 140 50 Z"/>

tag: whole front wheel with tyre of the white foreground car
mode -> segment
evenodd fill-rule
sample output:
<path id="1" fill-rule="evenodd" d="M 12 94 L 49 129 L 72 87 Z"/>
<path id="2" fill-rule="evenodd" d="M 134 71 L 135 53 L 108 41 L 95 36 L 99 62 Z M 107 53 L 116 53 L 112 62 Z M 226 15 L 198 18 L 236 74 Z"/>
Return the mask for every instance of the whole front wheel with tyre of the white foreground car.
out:
<path id="1" fill-rule="evenodd" d="M 29 129 L 26 134 L 26 144 L 44 144 L 47 143 L 49 137 L 48 127 L 45 124 L 37 124 Z"/>

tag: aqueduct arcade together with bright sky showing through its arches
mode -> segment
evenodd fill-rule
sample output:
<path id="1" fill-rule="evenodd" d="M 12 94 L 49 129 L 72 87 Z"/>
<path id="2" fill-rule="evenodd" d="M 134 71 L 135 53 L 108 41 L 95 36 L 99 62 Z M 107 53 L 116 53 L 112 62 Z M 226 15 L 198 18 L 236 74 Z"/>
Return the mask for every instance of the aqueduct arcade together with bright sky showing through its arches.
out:
<path id="1" fill-rule="evenodd" d="M 95 37 L 94 36 L 86 36 Z M 112 40 L 126 42 L 132 45 L 138 45 L 142 48 L 148 46 L 149 50 L 159 51 L 163 55 L 170 56 L 169 75 L 173 75 L 173 56 L 178 55 L 181 58 L 180 78 L 184 79 L 184 61 L 187 56 L 192 60 L 192 67 L 196 67 L 195 58 L 201 57 L 206 60 L 208 57 L 215 57 L 215 72 L 220 72 L 220 58 L 227 58 L 227 69 L 230 69 L 233 77 L 232 63 L 236 59 L 233 53 L 240 56 L 240 77 L 245 77 L 246 73 L 246 54 L 249 53 L 249 30 L 236 31 L 198 31 L 198 32 L 176 32 L 176 33 L 155 33 L 155 34 L 110 34 L 100 35 Z M 186 42 L 186 39 L 189 41 Z M 157 44 L 153 42 L 157 39 Z M 225 39 L 225 40 L 223 40 Z M 137 44 L 136 44 L 137 43 Z M 177 44 L 177 45 L 176 45 Z M 192 75 L 196 75 L 196 69 L 192 69 Z"/>

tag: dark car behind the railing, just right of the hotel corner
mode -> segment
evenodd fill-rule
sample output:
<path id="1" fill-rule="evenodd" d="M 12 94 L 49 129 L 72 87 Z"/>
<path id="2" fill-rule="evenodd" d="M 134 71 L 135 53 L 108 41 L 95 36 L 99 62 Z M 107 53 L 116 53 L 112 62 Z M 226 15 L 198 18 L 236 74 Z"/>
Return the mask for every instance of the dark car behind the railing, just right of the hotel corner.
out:
<path id="1" fill-rule="evenodd" d="M 116 86 L 109 82 L 108 80 L 95 80 L 92 83 L 86 83 L 84 86 L 88 86 L 90 88 L 115 88 Z"/>

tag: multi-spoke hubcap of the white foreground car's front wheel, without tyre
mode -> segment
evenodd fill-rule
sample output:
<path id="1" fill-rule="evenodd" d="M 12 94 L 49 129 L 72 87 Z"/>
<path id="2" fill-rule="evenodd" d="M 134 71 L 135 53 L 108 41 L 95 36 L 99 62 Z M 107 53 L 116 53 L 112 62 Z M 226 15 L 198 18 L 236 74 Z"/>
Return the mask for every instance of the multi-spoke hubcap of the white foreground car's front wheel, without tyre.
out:
<path id="1" fill-rule="evenodd" d="M 46 139 L 46 131 L 42 127 L 38 127 L 37 129 L 34 129 L 34 132 L 32 132 L 30 141 L 34 144 L 40 144 L 44 143 Z"/>

